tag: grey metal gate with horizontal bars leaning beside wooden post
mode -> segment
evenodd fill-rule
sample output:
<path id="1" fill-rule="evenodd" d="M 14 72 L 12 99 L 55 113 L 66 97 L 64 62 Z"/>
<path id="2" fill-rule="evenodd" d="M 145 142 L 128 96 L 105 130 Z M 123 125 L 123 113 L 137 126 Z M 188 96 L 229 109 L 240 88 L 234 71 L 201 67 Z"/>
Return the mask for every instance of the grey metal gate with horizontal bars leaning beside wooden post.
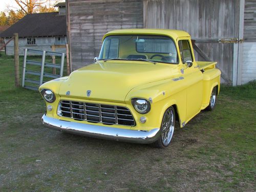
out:
<path id="1" fill-rule="evenodd" d="M 41 55 L 42 59 L 41 61 L 35 61 L 35 60 L 28 60 L 27 55 L 28 53 L 34 53 L 37 55 Z M 50 62 L 45 62 L 46 61 L 46 56 L 60 56 L 61 57 L 61 62 L 59 64 L 55 63 L 50 63 Z M 38 90 L 39 86 L 42 83 L 45 83 L 44 77 L 50 77 L 50 78 L 59 78 L 63 76 L 63 66 L 64 66 L 64 60 L 65 60 L 65 53 L 56 53 L 56 52 L 50 52 L 50 51 L 40 51 L 40 50 L 33 50 L 33 49 L 25 49 L 24 53 L 24 63 L 23 63 L 23 78 L 22 78 L 22 87 L 26 89 L 31 89 L 31 90 Z M 41 70 L 40 71 L 32 71 L 32 70 L 27 70 L 27 65 L 34 65 L 34 66 L 40 66 Z M 55 69 L 60 69 L 59 74 L 53 74 L 53 73 L 46 73 L 45 68 L 55 68 Z M 33 75 L 35 78 L 26 78 L 26 75 Z M 36 76 L 39 76 L 39 80 L 36 79 Z M 31 85 L 26 85 L 25 83 L 32 83 L 35 84 L 35 86 Z"/>

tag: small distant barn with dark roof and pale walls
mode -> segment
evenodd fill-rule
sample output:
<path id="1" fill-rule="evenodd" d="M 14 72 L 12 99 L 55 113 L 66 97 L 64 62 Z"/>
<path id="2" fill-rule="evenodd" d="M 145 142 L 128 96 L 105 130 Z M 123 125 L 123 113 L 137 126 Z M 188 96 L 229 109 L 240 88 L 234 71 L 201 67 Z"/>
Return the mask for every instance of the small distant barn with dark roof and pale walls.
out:
<path id="1" fill-rule="evenodd" d="M 23 55 L 25 48 L 51 51 L 52 46 L 55 51 L 66 53 L 67 25 L 65 3 L 56 5 L 59 12 L 33 13 L 28 14 L 17 23 L 0 34 L 0 38 L 5 39 L 5 43 L 14 33 L 19 35 L 19 54 Z M 64 9 L 64 10 L 63 10 Z M 14 54 L 14 42 L 9 42 L 6 46 L 6 54 Z"/>

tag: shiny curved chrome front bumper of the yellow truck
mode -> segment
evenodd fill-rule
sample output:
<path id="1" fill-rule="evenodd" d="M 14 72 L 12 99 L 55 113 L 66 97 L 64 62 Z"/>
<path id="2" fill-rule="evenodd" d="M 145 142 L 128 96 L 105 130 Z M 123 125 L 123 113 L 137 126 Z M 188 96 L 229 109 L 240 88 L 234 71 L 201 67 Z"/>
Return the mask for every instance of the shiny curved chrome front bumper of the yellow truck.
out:
<path id="1" fill-rule="evenodd" d="M 99 126 L 63 121 L 47 117 L 46 115 L 42 116 L 42 124 L 52 130 L 131 143 L 153 143 L 161 135 L 159 128 L 153 129 L 151 131 L 125 130 L 110 126 Z"/>

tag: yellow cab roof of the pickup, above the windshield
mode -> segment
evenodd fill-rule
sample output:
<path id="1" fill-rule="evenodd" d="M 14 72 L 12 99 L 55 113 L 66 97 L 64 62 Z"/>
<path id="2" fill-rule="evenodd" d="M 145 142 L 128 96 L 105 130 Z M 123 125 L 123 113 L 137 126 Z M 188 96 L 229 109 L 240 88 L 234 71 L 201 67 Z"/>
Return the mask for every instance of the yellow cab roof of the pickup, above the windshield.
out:
<path id="1" fill-rule="evenodd" d="M 106 33 L 102 40 L 110 35 L 164 35 L 173 37 L 173 39 L 177 39 L 178 37 L 190 37 L 190 35 L 185 31 L 175 30 L 175 29 L 120 29 L 114 30 Z"/>

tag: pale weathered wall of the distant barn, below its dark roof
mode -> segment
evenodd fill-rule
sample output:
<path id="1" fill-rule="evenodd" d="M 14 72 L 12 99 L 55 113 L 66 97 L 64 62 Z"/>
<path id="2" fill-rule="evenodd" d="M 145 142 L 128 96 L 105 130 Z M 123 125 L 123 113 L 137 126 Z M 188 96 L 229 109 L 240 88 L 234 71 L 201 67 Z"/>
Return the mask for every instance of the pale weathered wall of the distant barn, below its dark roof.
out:
<path id="1" fill-rule="evenodd" d="M 7 42 L 9 38 L 6 38 Z M 51 46 L 55 43 L 55 37 L 36 37 L 36 45 L 27 45 L 27 38 L 19 38 L 19 55 L 24 55 L 24 50 L 27 49 L 36 49 L 36 50 L 44 50 L 44 51 L 52 51 Z M 9 42 L 6 46 L 6 54 L 13 55 L 14 48 L 13 40 Z M 55 52 L 66 53 L 66 49 L 55 49 Z"/>

